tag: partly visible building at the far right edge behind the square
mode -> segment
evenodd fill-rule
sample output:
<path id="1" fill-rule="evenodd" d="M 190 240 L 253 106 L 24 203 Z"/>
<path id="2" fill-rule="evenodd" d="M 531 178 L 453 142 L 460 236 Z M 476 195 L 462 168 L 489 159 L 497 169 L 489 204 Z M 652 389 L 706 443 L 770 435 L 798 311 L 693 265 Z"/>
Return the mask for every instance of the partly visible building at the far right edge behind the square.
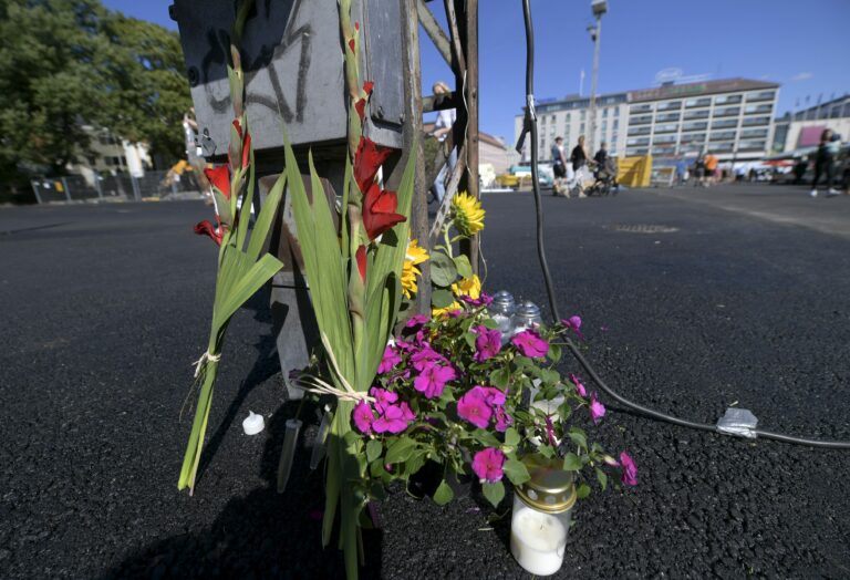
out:
<path id="1" fill-rule="evenodd" d="M 788 153 L 804 147 L 813 147 L 820 143 L 823 130 L 831 128 L 850 141 L 850 95 L 832 99 L 774 122 L 773 153 Z"/>

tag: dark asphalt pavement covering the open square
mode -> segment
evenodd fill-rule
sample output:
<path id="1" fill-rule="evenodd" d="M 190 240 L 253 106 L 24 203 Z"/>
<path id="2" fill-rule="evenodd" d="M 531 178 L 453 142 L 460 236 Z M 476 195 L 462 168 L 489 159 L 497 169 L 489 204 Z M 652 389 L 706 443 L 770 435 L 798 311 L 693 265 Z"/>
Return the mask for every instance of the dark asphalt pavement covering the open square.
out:
<path id="1" fill-rule="evenodd" d="M 545 304 L 531 196 L 484 201 L 486 288 Z M 560 309 L 584 320 L 609 384 L 694 421 L 734 405 L 770 431 L 850 439 L 850 196 L 742 185 L 543 208 Z M 194 201 L 0 209 L 0 578 L 342 577 L 320 546 L 312 410 L 291 488 L 273 489 L 296 407 L 265 294 L 230 327 L 197 489 L 177 491 L 216 262 L 191 227 L 208 217 Z M 850 577 L 850 452 L 601 400 L 593 436 L 629 449 L 640 485 L 579 505 L 557 578 Z M 256 437 L 249 410 L 267 420 Z M 394 489 L 363 577 L 528 578 L 509 505 Z"/>

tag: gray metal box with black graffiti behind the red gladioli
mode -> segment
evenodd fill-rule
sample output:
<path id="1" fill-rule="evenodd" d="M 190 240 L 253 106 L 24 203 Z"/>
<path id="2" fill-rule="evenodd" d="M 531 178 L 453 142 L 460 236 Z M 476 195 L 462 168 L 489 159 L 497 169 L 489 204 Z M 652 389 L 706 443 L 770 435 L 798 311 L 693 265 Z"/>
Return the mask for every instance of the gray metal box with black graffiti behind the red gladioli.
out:
<path id="1" fill-rule="evenodd" d="M 205 154 L 227 154 L 232 108 L 227 80 L 235 0 L 175 0 L 198 130 Z M 361 77 L 375 83 L 366 134 L 402 147 L 404 43 L 402 0 L 355 1 Z M 257 0 L 243 33 L 248 120 L 258 152 L 282 147 L 281 122 L 293 145 L 344 143 L 342 41 L 336 0 Z M 205 138 L 208 135 L 211 142 Z"/>

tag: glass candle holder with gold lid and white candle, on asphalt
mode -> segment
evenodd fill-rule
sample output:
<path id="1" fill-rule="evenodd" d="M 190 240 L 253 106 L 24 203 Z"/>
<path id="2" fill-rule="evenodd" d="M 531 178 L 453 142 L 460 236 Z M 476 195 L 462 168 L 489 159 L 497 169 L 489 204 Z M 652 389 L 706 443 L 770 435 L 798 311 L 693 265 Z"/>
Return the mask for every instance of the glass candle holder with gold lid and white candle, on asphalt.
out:
<path id="1" fill-rule="evenodd" d="M 514 488 L 514 514 L 510 520 L 510 552 L 519 566 L 537 576 L 560 570 L 576 486 L 572 473 L 561 462 L 540 454 L 525 457 L 531 479 Z"/>

